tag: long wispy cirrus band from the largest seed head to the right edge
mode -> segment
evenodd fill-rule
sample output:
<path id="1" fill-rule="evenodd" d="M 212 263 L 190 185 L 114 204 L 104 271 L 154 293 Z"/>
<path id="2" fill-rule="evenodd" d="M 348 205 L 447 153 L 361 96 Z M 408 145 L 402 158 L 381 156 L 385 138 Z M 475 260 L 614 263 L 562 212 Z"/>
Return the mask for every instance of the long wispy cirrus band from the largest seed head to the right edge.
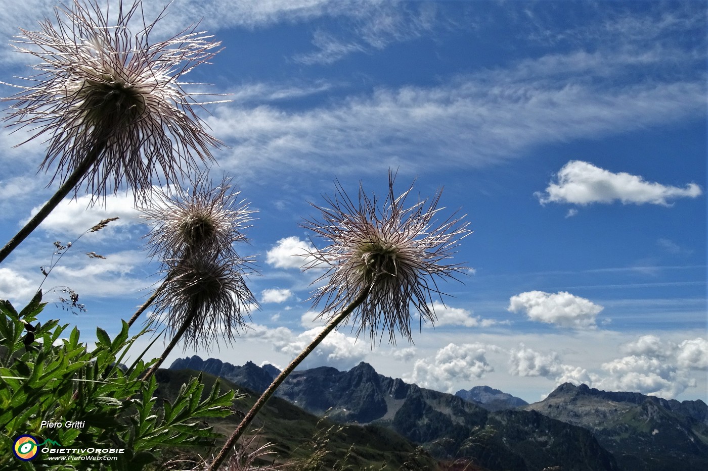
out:
<path id="1" fill-rule="evenodd" d="M 459 77 L 440 86 L 379 88 L 311 109 L 222 105 L 207 122 L 231 146 L 227 168 L 317 172 L 338 165 L 375 172 L 406 163 L 479 168 L 535 146 L 627 132 L 698 117 L 704 83 L 489 83 Z M 444 156 L 445 158 L 442 158 Z"/>

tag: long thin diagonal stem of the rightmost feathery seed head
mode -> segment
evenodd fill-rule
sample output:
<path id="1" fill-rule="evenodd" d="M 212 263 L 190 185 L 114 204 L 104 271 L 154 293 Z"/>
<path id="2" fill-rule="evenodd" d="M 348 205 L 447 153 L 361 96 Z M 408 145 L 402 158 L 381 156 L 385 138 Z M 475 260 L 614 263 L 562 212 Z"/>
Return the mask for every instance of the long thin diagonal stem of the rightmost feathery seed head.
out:
<path id="1" fill-rule="evenodd" d="M 270 396 L 273 395 L 273 392 L 275 392 L 276 389 L 278 389 L 278 386 L 280 386 L 280 383 L 282 383 L 287 376 L 292 373 L 297 366 L 302 363 L 302 361 L 310 354 L 312 351 L 319 345 L 322 340 L 324 340 L 324 337 L 327 337 L 329 335 L 329 332 L 334 330 L 337 325 L 339 325 L 340 322 L 342 322 L 344 319 L 348 317 L 352 313 L 353 310 L 355 310 L 362 302 L 365 301 L 367 296 L 369 296 L 369 289 L 370 287 L 367 286 L 365 289 L 362 289 L 359 295 L 354 298 L 354 300 L 342 310 L 341 313 L 336 315 L 330 322 L 329 324 L 324 327 L 324 330 L 317 335 L 317 337 L 314 338 L 310 344 L 305 347 L 305 349 L 295 357 L 295 359 L 290 362 L 290 365 L 287 366 L 279 375 L 278 378 L 275 378 L 273 380 L 273 383 L 270 383 L 270 386 L 268 386 L 268 389 L 266 389 L 261 397 L 258 397 L 258 400 L 256 401 L 256 404 L 251 407 L 251 410 L 249 410 L 249 413 L 246 414 L 246 417 L 244 417 L 243 420 L 241 420 L 241 424 L 236 427 L 236 430 L 234 430 L 234 433 L 229 437 L 227 442 L 224 444 L 223 448 L 219 451 L 219 454 L 217 455 L 216 458 L 214 458 L 214 461 L 212 465 L 209 467 L 207 471 L 216 471 L 219 469 L 219 466 L 224 463 L 224 460 L 227 458 L 229 455 L 230 451 L 236 444 L 236 441 L 239 440 L 241 435 L 244 434 L 246 431 L 246 428 L 251 424 L 251 421 L 256 417 L 256 414 L 258 414 L 258 411 L 261 410 L 261 408 L 265 405 L 265 402 L 268 402 L 268 399 L 270 399 Z"/>

